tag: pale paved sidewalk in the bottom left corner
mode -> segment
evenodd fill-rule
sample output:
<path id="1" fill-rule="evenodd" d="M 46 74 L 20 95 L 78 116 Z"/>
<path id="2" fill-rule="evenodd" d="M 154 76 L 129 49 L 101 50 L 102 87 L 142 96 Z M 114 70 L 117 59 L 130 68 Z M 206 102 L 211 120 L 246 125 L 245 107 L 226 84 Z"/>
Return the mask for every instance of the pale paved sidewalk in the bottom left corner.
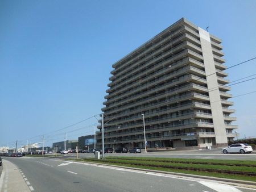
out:
<path id="1" fill-rule="evenodd" d="M 30 192 L 19 169 L 10 161 L 3 160 L 3 171 L 0 177 L 0 192 Z"/>

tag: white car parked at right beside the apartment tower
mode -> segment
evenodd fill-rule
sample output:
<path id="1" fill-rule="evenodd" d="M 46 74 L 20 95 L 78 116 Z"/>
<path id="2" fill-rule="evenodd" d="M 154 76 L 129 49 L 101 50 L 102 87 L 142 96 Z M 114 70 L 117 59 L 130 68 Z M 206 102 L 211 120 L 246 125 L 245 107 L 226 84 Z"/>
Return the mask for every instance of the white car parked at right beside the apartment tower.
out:
<path id="1" fill-rule="evenodd" d="M 251 153 L 253 151 L 253 148 L 251 148 L 250 145 L 247 143 L 236 143 L 233 145 L 230 145 L 229 147 L 223 148 L 222 153 Z"/>

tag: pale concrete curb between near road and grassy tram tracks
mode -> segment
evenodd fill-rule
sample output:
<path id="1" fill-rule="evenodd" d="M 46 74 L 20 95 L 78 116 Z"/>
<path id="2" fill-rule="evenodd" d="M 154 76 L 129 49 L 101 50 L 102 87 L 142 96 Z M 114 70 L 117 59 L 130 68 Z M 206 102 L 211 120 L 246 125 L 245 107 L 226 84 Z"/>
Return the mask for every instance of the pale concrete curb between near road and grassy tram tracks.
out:
<path id="1" fill-rule="evenodd" d="M 65 160 L 65 161 L 82 162 L 82 161 L 77 161 L 77 160 Z M 227 179 L 227 178 L 199 176 L 199 175 L 185 174 L 185 173 L 164 172 L 164 171 L 161 171 L 161 170 L 151 170 L 151 169 L 142 169 L 142 168 L 131 168 L 131 167 L 127 167 L 127 166 L 100 164 L 100 163 L 96 163 L 96 162 L 87 162 L 87 161 L 84 161 L 84 162 L 88 163 L 88 164 L 94 164 L 94 165 L 105 165 L 105 166 L 112 166 L 112 167 L 116 167 L 116 168 L 140 170 L 140 171 L 144 171 L 144 172 L 171 174 L 171 175 L 175 175 L 175 176 L 183 176 L 183 177 L 190 177 L 190 178 L 199 178 L 199 179 L 203 179 L 203 180 L 218 181 L 218 182 L 222 182 L 224 184 L 237 186 L 237 187 L 248 187 L 248 188 L 256 189 L 256 182 L 254 182 L 254 181 L 232 180 L 232 179 Z"/>

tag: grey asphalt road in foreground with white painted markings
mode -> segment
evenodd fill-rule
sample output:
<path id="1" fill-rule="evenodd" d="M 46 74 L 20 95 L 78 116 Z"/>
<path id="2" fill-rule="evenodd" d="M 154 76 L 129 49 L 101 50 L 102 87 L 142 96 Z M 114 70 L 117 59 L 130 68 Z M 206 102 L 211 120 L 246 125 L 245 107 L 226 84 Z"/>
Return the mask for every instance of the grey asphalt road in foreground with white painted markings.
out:
<path id="1" fill-rule="evenodd" d="M 210 181 L 98 166 L 60 159 L 5 157 L 35 191 L 253 191 Z"/>

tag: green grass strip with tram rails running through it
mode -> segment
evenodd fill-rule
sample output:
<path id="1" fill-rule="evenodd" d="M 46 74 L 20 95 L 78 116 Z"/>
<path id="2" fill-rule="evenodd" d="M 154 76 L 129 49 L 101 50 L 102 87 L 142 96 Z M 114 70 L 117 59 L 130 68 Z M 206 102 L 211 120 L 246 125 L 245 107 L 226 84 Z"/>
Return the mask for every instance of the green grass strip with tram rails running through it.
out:
<path id="1" fill-rule="evenodd" d="M 235 180 L 256 181 L 255 161 L 198 160 L 183 158 L 150 158 L 150 157 L 107 157 L 81 158 L 79 161 L 98 162 L 108 165 L 121 165 L 133 168 L 161 170 L 196 174 L 200 176 L 230 178 Z"/>

